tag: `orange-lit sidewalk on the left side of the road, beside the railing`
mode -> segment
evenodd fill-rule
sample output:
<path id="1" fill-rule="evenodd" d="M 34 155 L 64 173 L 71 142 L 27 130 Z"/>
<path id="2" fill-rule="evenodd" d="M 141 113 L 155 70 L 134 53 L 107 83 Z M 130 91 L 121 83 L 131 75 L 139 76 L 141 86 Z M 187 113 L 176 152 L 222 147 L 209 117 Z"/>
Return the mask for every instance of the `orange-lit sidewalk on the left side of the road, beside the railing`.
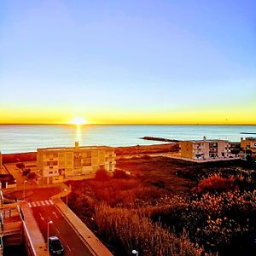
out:
<path id="1" fill-rule="evenodd" d="M 41 231 L 38 228 L 31 209 L 27 206 L 26 202 L 20 202 L 20 209 L 24 215 L 26 229 L 29 234 L 29 239 L 32 241 L 32 247 L 37 256 L 45 256 L 47 253 L 46 243 Z"/>

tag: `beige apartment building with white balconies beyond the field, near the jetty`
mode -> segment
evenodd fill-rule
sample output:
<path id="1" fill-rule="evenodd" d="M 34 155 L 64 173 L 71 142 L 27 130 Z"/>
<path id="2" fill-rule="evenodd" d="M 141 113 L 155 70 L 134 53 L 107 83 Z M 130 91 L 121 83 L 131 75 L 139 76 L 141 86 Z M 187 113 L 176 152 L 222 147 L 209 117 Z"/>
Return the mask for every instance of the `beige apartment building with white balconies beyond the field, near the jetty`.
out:
<path id="1" fill-rule="evenodd" d="M 212 160 L 230 157 L 230 143 L 227 140 L 183 141 L 180 143 L 181 157 L 192 160 Z"/>

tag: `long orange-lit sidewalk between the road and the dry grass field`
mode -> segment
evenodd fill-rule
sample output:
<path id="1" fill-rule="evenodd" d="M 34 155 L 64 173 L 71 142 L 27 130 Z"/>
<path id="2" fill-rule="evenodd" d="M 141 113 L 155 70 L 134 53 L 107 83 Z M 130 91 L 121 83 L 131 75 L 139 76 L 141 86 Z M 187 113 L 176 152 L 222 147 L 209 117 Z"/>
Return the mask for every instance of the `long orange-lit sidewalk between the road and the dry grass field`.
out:
<path id="1" fill-rule="evenodd" d="M 84 241 L 84 244 L 90 249 L 92 255 L 113 256 L 113 254 L 108 251 L 108 248 L 102 244 L 93 232 L 86 227 L 80 218 L 78 218 L 60 198 L 53 198 L 52 200 L 55 202 L 55 206 L 60 210 L 64 218 L 67 219 L 67 222 L 77 231 L 82 241 Z"/>

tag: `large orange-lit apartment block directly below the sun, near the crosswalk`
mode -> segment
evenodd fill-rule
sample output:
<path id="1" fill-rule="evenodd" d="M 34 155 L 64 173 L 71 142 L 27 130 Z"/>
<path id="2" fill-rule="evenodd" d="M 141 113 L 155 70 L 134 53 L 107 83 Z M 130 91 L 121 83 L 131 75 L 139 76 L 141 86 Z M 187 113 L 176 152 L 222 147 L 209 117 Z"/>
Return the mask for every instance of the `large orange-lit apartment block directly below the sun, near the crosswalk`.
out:
<path id="1" fill-rule="evenodd" d="M 114 148 L 75 147 L 38 148 L 38 174 L 42 183 L 59 183 L 77 177 L 95 177 L 104 168 L 109 175 L 114 172 Z"/>

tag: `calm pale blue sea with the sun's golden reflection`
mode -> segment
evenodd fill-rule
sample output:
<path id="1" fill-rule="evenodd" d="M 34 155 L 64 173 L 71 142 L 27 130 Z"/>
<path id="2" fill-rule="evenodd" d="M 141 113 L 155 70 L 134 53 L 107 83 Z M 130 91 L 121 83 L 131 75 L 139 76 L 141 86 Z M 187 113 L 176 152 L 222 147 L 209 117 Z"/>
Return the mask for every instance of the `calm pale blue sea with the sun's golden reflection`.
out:
<path id="1" fill-rule="evenodd" d="M 228 139 L 256 137 L 256 125 L 0 125 L 0 151 L 3 154 L 36 151 L 37 148 L 107 145 L 131 146 L 160 142 L 140 139 L 144 136 L 170 139 Z"/>

